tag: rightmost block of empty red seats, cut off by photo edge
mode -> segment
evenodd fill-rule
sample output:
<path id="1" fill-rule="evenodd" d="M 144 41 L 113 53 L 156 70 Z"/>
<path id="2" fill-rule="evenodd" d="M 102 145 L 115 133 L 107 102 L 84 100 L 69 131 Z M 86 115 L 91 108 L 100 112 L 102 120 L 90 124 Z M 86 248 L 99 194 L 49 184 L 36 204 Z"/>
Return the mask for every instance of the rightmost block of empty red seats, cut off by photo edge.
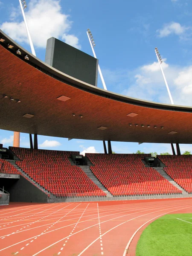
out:
<path id="1" fill-rule="evenodd" d="M 188 193 L 192 193 L 192 156 L 158 155 L 165 165 L 164 171 Z"/>

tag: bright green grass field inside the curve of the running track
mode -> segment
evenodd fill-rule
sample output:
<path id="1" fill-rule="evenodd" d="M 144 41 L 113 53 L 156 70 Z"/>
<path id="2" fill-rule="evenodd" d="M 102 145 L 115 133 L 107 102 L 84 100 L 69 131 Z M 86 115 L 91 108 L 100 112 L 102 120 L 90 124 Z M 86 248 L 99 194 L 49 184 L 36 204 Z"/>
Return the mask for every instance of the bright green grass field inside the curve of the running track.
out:
<path id="1" fill-rule="evenodd" d="M 136 256 L 192 256 L 192 214 L 167 214 L 145 228 Z"/>

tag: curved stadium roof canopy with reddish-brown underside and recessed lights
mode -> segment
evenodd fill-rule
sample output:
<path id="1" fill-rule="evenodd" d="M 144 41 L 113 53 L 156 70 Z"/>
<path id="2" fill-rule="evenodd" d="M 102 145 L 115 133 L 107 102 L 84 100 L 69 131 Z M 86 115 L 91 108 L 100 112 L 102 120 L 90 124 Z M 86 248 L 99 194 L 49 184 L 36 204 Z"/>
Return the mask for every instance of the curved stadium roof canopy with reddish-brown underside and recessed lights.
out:
<path id="1" fill-rule="evenodd" d="M 0 129 L 87 140 L 192 143 L 191 107 L 102 90 L 55 70 L 1 30 L 0 37 L 5 39 L 0 42 Z"/>

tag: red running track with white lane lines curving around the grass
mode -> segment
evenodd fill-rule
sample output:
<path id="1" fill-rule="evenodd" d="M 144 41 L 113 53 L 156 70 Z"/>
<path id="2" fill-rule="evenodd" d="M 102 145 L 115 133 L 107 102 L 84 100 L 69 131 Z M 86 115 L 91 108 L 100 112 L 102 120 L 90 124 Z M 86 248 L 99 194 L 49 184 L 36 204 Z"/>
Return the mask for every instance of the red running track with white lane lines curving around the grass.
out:
<path id="1" fill-rule="evenodd" d="M 192 199 L 10 203 L 0 207 L 0 256 L 134 256 L 141 231 Z"/>

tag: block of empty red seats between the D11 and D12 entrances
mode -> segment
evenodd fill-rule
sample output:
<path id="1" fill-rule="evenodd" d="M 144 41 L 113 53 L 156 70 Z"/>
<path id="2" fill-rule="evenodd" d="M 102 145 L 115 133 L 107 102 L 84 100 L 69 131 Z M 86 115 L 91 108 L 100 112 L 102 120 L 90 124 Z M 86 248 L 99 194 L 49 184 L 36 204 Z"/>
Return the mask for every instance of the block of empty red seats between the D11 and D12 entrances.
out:
<path id="1" fill-rule="evenodd" d="M 93 174 L 112 195 L 182 193 L 155 169 L 145 167 L 143 154 L 86 154 Z"/>

